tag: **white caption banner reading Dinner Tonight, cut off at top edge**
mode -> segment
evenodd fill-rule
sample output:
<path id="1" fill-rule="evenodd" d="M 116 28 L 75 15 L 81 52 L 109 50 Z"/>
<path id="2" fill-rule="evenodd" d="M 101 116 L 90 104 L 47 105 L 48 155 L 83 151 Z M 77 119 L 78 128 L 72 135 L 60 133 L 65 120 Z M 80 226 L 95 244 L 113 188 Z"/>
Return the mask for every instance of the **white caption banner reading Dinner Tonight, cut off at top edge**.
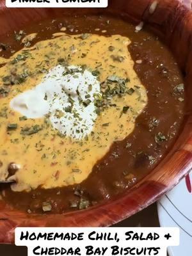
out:
<path id="1" fill-rule="evenodd" d="M 8 8 L 106 8 L 108 0 L 6 0 Z"/>

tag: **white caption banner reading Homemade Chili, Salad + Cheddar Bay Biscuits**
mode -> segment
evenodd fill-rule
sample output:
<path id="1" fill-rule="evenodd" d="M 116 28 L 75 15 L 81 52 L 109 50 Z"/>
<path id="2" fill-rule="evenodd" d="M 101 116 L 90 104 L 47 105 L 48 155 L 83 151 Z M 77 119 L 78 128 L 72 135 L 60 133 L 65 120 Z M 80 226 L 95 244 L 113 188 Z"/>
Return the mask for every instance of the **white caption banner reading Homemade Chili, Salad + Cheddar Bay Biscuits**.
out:
<path id="1" fill-rule="evenodd" d="M 166 256 L 179 246 L 179 228 L 15 228 L 15 244 L 28 256 Z"/>

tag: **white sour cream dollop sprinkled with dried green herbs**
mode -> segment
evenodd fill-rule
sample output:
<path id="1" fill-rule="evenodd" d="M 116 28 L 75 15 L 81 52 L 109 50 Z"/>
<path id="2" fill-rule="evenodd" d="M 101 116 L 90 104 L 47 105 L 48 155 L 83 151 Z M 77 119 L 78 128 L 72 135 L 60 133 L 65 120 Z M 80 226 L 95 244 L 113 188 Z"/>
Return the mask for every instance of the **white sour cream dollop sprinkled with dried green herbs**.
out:
<path id="1" fill-rule="evenodd" d="M 90 71 L 58 65 L 42 83 L 13 98 L 10 106 L 27 118 L 47 115 L 61 134 L 81 140 L 93 129 L 97 118 L 94 95 L 99 94 L 100 83 Z"/>

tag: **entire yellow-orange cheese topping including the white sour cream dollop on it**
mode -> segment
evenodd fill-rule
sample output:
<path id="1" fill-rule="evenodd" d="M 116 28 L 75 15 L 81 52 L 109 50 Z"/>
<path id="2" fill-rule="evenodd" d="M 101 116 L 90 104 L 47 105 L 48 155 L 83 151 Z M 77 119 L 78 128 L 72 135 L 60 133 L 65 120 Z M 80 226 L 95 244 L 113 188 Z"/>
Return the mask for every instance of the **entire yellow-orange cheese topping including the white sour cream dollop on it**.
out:
<path id="1" fill-rule="evenodd" d="M 120 35 L 67 35 L 26 47 L 0 68 L 0 179 L 13 191 L 79 184 L 147 105 Z M 1 61 L 1 60 L 0 60 Z M 118 157 L 118 156 L 117 156 Z"/>

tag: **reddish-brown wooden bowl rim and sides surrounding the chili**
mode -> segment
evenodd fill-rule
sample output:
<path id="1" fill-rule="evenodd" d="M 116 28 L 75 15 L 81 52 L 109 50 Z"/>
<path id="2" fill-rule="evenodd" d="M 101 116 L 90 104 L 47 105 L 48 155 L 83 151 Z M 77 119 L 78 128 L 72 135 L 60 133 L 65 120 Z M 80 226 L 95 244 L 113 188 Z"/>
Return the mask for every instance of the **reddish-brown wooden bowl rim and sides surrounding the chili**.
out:
<path id="1" fill-rule="evenodd" d="M 85 211 L 68 214 L 29 215 L 8 211 L 0 204 L 0 243 L 13 243 L 15 227 L 104 227 L 131 216 L 155 202 L 172 189 L 192 168 L 192 13 L 177 0 L 161 0 L 154 13 L 149 7 L 154 0 L 109 0 L 107 9 L 6 8 L 0 0 L 0 39 L 31 22 L 47 17 L 54 19 L 66 13 L 118 13 L 138 24 L 141 20 L 164 38 L 180 68 L 186 74 L 186 116 L 180 136 L 164 160 L 124 195 Z"/>

